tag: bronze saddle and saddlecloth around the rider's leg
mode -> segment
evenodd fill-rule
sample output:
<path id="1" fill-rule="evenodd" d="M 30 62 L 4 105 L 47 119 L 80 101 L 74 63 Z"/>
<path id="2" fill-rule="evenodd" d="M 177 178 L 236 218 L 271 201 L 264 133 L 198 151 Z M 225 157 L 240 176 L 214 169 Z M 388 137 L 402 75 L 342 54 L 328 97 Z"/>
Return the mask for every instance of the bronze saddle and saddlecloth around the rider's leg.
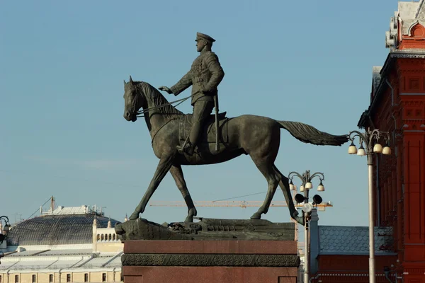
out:
<path id="1" fill-rule="evenodd" d="M 227 144 L 229 136 L 227 134 L 227 121 L 229 120 L 226 117 L 227 112 L 222 112 L 218 114 L 218 123 L 219 123 L 219 141 L 220 144 Z M 180 144 L 183 144 L 184 141 L 189 137 L 192 127 L 192 114 L 185 115 L 180 118 L 179 122 L 179 139 Z M 207 118 L 203 125 L 202 134 L 200 135 L 199 144 L 212 144 L 215 143 L 215 115 L 210 115 Z"/>

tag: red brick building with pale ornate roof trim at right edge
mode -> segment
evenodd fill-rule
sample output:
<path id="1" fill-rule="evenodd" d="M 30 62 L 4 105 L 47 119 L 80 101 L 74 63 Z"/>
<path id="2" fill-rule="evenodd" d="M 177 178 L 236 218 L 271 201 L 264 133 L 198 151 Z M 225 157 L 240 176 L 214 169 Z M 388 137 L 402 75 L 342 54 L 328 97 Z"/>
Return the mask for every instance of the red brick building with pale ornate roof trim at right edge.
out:
<path id="1" fill-rule="evenodd" d="M 375 156 L 375 241 L 387 237 L 385 244 L 375 245 L 376 281 L 389 282 L 383 273 L 387 266 L 392 282 L 425 283 L 424 0 L 399 2 L 386 47 L 390 53 L 383 67 L 373 67 L 370 106 L 358 122 L 358 127 L 391 134 L 392 155 Z M 314 237 L 319 242 L 312 253 L 317 265 L 312 282 L 368 282 L 368 253 L 329 253 L 329 236 L 320 229 L 311 236 L 312 245 Z M 362 241 L 367 243 L 367 237 Z"/>

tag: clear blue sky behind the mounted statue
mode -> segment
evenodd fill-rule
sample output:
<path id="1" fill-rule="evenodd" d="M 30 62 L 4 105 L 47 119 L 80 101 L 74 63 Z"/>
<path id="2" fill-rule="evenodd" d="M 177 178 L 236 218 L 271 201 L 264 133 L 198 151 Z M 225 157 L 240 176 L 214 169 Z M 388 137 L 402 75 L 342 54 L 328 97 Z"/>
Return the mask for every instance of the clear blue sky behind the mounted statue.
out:
<path id="1" fill-rule="evenodd" d="M 106 207 L 119 220 L 131 214 L 158 160 L 145 122 L 123 118 L 123 79 L 172 86 L 198 55 L 197 31 L 217 40 L 226 74 L 220 108 L 229 116 L 305 122 L 332 134 L 357 129 L 395 10 L 395 0 L 2 2 L 0 214 L 26 219 L 51 195 L 63 206 Z M 189 104 L 179 109 L 190 112 Z M 321 195 L 334 207 L 321 224 L 368 224 L 366 160 L 347 148 L 303 144 L 282 131 L 280 171 L 325 174 Z M 193 200 L 267 187 L 249 156 L 183 171 Z M 152 200 L 182 200 L 171 175 Z M 283 200 L 280 190 L 274 200 Z M 255 210 L 198 207 L 198 215 L 242 219 Z M 143 215 L 159 223 L 185 216 L 185 207 Z M 288 221 L 288 209 L 264 218 Z"/>

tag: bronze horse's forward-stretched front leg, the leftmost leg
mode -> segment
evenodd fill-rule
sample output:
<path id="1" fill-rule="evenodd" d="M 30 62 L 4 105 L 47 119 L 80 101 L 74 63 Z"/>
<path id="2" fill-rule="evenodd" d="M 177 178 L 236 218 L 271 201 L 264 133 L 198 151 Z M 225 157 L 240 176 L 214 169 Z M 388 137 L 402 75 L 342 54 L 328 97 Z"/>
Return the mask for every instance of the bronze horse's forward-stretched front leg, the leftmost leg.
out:
<path id="1" fill-rule="evenodd" d="M 165 158 L 161 158 L 161 160 L 159 160 L 157 171 L 154 173 L 154 178 L 152 178 L 151 183 L 149 184 L 149 187 L 147 188 L 145 195 L 142 197 L 139 205 L 137 205 L 135 212 L 131 214 L 130 220 L 139 218 L 139 214 L 145 211 L 147 202 L 149 202 L 149 199 L 152 197 L 155 190 L 157 190 L 159 183 L 161 183 L 166 173 L 170 170 L 173 157 L 174 156 L 166 156 Z"/>

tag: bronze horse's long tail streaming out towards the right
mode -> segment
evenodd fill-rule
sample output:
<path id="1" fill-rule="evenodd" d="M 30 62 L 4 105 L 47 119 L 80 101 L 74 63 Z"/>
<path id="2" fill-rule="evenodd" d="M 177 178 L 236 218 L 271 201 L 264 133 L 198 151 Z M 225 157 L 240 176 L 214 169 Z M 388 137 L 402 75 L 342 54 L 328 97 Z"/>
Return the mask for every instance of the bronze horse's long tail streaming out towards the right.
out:
<path id="1" fill-rule="evenodd" d="M 321 132 L 315 127 L 300 122 L 276 122 L 280 124 L 280 127 L 292 134 L 293 137 L 308 144 L 316 144 L 318 146 L 341 146 L 341 144 L 345 144 L 348 141 L 347 134 L 335 136 L 334 134 Z"/>

